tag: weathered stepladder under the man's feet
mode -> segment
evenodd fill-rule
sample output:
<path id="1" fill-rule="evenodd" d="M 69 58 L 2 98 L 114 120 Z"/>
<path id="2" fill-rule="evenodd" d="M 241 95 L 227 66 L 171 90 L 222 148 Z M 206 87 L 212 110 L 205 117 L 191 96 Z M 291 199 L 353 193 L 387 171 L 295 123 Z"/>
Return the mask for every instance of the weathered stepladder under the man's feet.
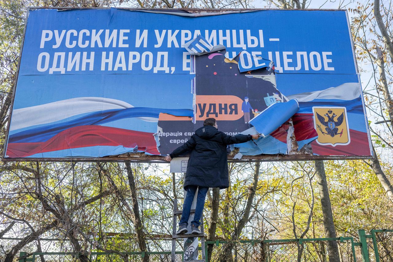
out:
<path id="1" fill-rule="evenodd" d="M 174 199 L 173 203 L 173 231 L 172 231 L 172 254 L 171 254 L 171 262 L 180 262 L 180 261 L 189 261 L 189 262 L 206 262 L 205 258 L 205 234 L 204 234 L 204 226 L 203 226 L 203 216 L 200 219 L 200 234 L 179 234 L 176 235 L 177 228 L 177 216 L 183 213 L 182 210 L 178 210 L 177 208 L 177 199 Z M 191 209 L 190 214 L 195 213 L 195 209 Z M 177 239 L 186 239 L 184 240 L 184 255 L 181 260 L 176 260 L 176 240 Z M 198 259 L 198 247 L 199 240 L 201 243 L 201 253 L 202 259 Z M 196 257 L 196 258 L 195 258 Z"/>

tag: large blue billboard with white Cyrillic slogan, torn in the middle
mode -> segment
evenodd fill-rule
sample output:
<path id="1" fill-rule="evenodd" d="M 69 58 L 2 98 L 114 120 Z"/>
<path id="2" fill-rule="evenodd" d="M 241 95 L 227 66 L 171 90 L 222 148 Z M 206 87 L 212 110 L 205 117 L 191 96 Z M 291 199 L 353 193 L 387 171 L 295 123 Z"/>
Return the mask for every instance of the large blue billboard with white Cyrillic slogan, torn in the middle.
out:
<path id="1" fill-rule="evenodd" d="M 231 156 L 372 156 L 346 11 L 30 8 L 3 159 L 162 159 L 207 117 L 250 134 L 291 99 Z"/>

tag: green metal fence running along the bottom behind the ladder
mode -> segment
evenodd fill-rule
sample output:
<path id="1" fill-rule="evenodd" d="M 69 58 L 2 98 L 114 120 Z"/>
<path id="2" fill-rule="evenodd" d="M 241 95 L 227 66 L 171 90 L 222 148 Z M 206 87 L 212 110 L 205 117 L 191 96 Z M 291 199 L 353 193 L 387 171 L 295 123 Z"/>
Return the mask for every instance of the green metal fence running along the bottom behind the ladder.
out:
<path id="1" fill-rule="evenodd" d="M 366 235 L 359 230 L 359 240 L 352 237 L 307 238 L 281 240 L 206 241 L 210 262 L 329 262 L 338 257 L 341 262 L 393 262 L 393 229 L 371 230 Z M 329 254 L 329 245 L 337 245 L 338 253 Z M 178 245 L 177 249 L 181 249 Z M 199 247 L 200 249 L 200 247 Z M 170 251 L 123 252 L 129 262 L 140 262 L 148 256 L 151 262 L 171 262 Z M 21 252 L 19 262 L 80 262 L 81 255 L 92 262 L 123 262 L 119 254 L 90 252 Z M 183 259 L 176 251 L 176 262 Z"/>

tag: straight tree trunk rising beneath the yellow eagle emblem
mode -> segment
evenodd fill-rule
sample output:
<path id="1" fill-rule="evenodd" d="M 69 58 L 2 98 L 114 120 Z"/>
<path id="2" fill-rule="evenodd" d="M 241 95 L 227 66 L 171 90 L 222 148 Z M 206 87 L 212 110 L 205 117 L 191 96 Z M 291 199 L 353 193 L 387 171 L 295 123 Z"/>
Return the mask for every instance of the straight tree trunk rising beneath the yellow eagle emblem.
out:
<path id="1" fill-rule="evenodd" d="M 334 228 L 332 204 L 330 202 L 329 189 L 327 187 L 325 166 L 323 160 L 315 160 L 316 177 L 321 197 L 321 208 L 323 214 L 323 225 L 325 227 L 325 237 L 335 238 L 336 229 Z M 338 246 L 336 241 L 327 242 L 329 252 L 329 262 L 340 262 Z"/>

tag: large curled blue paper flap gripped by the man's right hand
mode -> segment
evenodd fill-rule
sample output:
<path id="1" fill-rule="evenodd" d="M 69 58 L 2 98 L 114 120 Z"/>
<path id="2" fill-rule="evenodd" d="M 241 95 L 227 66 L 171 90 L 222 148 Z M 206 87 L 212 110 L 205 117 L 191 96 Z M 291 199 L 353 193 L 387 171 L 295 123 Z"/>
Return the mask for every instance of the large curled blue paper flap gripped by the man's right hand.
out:
<path id="1" fill-rule="evenodd" d="M 274 103 L 251 119 L 250 124 L 261 136 L 265 137 L 279 128 L 298 110 L 299 104 L 296 99 L 284 103 Z"/>

